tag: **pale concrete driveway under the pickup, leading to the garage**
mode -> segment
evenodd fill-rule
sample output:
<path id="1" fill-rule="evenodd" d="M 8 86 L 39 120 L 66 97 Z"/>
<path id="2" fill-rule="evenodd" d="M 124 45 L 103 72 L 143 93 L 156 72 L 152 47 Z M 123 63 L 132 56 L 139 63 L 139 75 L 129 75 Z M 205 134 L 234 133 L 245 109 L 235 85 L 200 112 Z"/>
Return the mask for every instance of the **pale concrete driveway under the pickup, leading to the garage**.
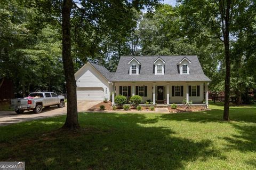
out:
<path id="1" fill-rule="evenodd" d="M 87 111 L 88 109 L 100 102 L 101 101 L 77 101 L 78 112 Z M 23 112 L 23 114 L 19 115 L 16 114 L 15 111 L 0 111 L 0 126 L 66 114 L 67 105 L 64 108 L 58 108 L 57 106 L 44 108 L 40 114 L 35 114 L 33 110 L 25 111 Z"/>

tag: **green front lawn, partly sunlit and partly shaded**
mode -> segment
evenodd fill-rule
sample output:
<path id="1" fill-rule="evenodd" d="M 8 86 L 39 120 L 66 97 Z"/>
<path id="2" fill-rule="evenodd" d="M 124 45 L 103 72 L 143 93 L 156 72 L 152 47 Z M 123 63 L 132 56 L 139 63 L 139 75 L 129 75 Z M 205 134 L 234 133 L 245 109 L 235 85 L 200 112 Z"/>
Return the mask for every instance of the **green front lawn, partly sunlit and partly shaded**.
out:
<path id="1" fill-rule="evenodd" d="M 82 113 L 79 133 L 65 116 L 0 127 L 0 161 L 26 169 L 255 169 L 256 106 L 182 114 Z"/>

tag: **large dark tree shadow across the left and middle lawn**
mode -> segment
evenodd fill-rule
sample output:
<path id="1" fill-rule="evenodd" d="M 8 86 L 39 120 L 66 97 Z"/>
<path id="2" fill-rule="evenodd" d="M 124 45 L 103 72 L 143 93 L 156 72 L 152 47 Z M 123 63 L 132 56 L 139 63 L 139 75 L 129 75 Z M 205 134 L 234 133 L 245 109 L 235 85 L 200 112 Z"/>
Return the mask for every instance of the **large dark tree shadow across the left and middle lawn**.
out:
<path id="1" fill-rule="evenodd" d="M 0 159 L 26 161 L 29 169 L 182 169 L 189 161 L 220 157 L 210 149 L 211 140 L 195 142 L 174 136 L 170 127 L 146 126 L 157 120 L 145 115 L 87 113 L 79 114 L 79 120 L 84 130 L 75 135 L 45 133 L 59 122 L 22 123 L 27 130 L 45 129 L 2 142 Z"/>

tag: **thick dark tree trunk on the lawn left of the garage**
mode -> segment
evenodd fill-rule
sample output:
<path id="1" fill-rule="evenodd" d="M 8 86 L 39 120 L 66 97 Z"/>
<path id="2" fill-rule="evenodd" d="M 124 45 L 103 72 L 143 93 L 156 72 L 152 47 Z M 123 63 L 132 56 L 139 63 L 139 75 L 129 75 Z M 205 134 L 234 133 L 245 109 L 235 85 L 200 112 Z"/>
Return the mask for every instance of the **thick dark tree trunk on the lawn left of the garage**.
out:
<path id="1" fill-rule="evenodd" d="M 64 0 L 62 7 L 62 60 L 68 92 L 67 118 L 62 128 L 78 129 L 76 80 L 71 58 L 70 13 L 72 3 L 72 0 Z"/>

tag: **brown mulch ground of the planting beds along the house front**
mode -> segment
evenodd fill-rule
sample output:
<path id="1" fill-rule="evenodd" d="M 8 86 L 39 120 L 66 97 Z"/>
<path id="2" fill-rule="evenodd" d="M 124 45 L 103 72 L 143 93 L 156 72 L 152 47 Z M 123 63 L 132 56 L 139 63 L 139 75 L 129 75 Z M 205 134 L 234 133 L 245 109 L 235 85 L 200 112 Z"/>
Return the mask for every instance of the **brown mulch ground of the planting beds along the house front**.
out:
<path id="1" fill-rule="evenodd" d="M 100 106 L 103 105 L 103 106 L 105 106 L 105 110 L 111 111 L 111 110 L 113 110 L 111 104 L 112 103 L 110 101 L 108 101 L 107 103 L 100 102 L 99 104 L 96 104 L 95 106 L 91 107 L 89 110 L 90 111 L 100 111 Z M 116 108 L 115 111 L 121 111 L 121 110 L 124 110 L 124 109 Z M 136 108 L 133 108 L 131 106 L 130 111 L 136 111 L 136 110 L 137 110 Z M 141 110 L 149 111 L 149 108 L 141 106 Z M 170 111 L 170 113 L 178 113 L 178 112 L 202 111 L 202 110 L 207 110 L 207 109 L 205 106 L 190 106 L 190 108 L 188 110 L 186 110 L 185 106 L 177 106 L 176 109 L 172 109 L 171 107 L 168 107 L 168 110 Z"/>

